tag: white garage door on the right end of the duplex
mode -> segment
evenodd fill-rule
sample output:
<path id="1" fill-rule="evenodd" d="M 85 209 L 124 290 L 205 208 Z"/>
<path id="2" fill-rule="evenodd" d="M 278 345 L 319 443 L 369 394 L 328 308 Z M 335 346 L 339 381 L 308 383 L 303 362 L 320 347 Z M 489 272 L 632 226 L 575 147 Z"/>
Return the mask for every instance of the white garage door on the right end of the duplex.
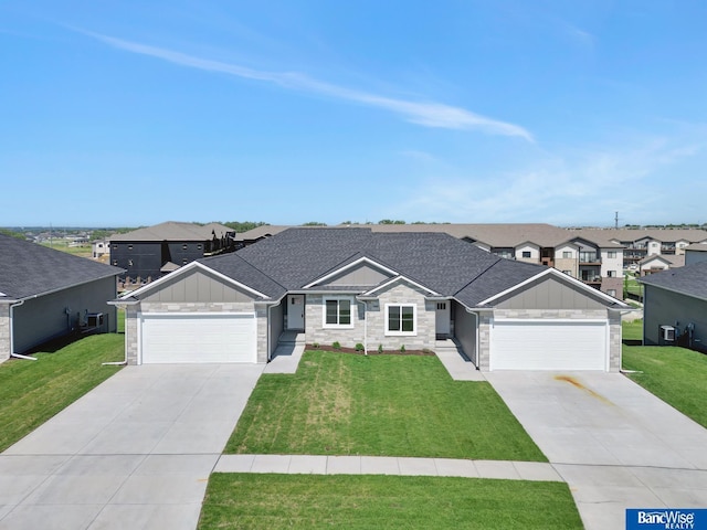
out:
<path id="1" fill-rule="evenodd" d="M 495 320 L 490 370 L 606 370 L 605 320 Z"/>

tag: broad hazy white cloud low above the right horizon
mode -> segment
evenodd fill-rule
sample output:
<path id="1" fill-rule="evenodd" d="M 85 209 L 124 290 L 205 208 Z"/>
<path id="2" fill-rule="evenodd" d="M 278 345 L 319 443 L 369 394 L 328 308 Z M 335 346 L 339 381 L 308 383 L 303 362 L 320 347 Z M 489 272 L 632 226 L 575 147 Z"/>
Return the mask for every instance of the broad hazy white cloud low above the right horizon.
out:
<path id="1" fill-rule="evenodd" d="M 704 157 L 706 147 L 659 139 L 633 149 L 545 158 L 523 170 L 437 174 L 420 182 L 389 215 L 407 219 L 423 211 L 429 221 L 610 225 L 618 210 L 626 222 L 661 222 L 667 213 L 669 221 L 679 210 L 668 209 L 689 211 L 688 203 L 696 202 L 689 194 L 677 202 L 685 189 L 673 173 L 687 159 Z M 707 191 L 700 183 L 689 186 L 698 195 Z"/>

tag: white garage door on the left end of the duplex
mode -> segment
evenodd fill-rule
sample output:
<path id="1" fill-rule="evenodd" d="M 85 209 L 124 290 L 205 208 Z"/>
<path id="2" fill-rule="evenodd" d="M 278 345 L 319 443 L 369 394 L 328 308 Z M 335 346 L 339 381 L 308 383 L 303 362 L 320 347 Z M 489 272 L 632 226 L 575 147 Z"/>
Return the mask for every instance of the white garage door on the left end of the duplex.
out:
<path id="1" fill-rule="evenodd" d="M 256 362 L 254 314 L 144 314 L 144 364 Z"/>

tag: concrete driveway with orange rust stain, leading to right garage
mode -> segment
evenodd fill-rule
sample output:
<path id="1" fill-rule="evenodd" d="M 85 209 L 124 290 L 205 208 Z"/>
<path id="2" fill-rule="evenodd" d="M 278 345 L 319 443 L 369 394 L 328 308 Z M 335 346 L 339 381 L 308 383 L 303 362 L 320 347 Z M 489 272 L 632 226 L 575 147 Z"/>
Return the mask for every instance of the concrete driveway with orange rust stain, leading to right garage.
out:
<path id="1" fill-rule="evenodd" d="M 485 375 L 569 484 L 588 530 L 625 528 L 626 508 L 707 507 L 707 431 L 624 375 Z"/>

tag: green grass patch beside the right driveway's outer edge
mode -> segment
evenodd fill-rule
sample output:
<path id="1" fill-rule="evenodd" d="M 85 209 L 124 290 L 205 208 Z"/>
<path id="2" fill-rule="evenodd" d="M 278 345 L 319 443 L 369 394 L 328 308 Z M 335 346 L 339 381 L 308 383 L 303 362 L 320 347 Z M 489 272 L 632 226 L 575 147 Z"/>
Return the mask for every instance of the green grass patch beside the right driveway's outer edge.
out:
<path id="1" fill-rule="evenodd" d="M 663 401 L 707 427 L 707 356 L 677 347 L 623 347 L 629 377 Z"/>

